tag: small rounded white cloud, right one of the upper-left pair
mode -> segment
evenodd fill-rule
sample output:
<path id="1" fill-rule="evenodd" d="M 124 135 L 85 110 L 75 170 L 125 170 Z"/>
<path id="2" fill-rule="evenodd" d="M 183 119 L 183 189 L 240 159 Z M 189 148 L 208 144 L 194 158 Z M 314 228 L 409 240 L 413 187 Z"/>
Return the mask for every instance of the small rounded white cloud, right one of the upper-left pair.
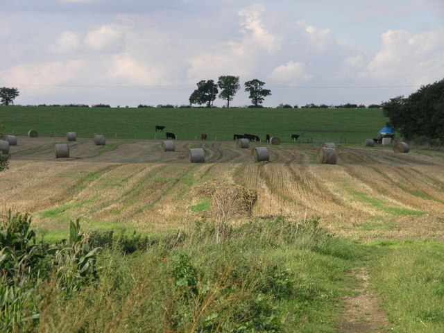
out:
<path id="1" fill-rule="evenodd" d="M 96 51 L 115 51 L 121 47 L 123 31 L 117 24 L 105 24 L 87 33 L 85 43 Z"/>

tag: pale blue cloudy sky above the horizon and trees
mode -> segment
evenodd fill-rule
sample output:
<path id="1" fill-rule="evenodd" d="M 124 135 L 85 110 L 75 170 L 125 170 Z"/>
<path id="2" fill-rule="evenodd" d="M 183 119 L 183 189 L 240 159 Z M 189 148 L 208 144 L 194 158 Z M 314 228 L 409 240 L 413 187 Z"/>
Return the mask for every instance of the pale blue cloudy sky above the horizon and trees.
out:
<path id="1" fill-rule="evenodd" d="M 0 87 L 16 105 L 380 104 L 444 78 L 444 0 L 0 0 Z M 214 105 L 226 101 L 216 99 Z"/>

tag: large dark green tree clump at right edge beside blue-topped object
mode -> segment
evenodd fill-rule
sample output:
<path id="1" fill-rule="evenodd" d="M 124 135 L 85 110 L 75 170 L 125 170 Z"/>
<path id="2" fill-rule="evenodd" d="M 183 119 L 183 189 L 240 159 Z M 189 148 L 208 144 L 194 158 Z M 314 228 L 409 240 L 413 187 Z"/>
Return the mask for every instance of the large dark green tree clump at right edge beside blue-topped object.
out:
<path id="1" fill-rule="evenodd" d="M 382 107 L 389 125 L 405 139 L 422 136 L 444 143 L 444 79 L 420 87 L 408 98 L 390 99 Z"/>

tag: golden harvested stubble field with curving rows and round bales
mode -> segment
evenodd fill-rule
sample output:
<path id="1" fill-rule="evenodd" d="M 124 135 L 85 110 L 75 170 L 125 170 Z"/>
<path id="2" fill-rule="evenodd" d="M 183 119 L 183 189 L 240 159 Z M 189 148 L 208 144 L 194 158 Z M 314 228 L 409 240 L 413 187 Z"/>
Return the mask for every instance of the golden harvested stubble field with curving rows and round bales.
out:
<path id="1" fill-rule="evenodd" d="M 444 152 L 339 145 L 338 164 L 316 164 L 315 144 L 267 146 L 270 162 L 253 162 L 234 142 L 90 138 L 69 142 L 56 159 L 60 137 L 18 137 L 10 169 L 0 173 L 4 207 L 33 212 L 35 228 L 64 237 L 67 221 L 85 216 L 93 229 L 141 232 L 177 229 L 205 216 L 211 200 L 198 185 L 218 180 L 257 192 L 253 218 L 284 215 L 321 225 L 364 243 L 375 239 L 444 240 Z M 188 148 L 205 149 L 191 164 Z M 250 219 L 237 217 L 238 221 Z"/>

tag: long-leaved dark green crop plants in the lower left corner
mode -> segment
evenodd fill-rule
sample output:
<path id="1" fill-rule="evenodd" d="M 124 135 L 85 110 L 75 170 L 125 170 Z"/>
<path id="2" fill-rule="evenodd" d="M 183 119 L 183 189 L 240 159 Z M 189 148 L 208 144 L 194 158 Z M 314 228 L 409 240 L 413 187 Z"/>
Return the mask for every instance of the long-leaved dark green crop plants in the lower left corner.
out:
<path id="1" fill-rule="evenodd" d="M 69 239 L 49 246 L 37 244 L 31 214 L 0 218 L 0 330 L 26 330 L 40 318 L 40 284 L 54 279 L 71 296 L 96 279 L 99 248 L 90 248 L 78 219 L 70 221 Z"/>

